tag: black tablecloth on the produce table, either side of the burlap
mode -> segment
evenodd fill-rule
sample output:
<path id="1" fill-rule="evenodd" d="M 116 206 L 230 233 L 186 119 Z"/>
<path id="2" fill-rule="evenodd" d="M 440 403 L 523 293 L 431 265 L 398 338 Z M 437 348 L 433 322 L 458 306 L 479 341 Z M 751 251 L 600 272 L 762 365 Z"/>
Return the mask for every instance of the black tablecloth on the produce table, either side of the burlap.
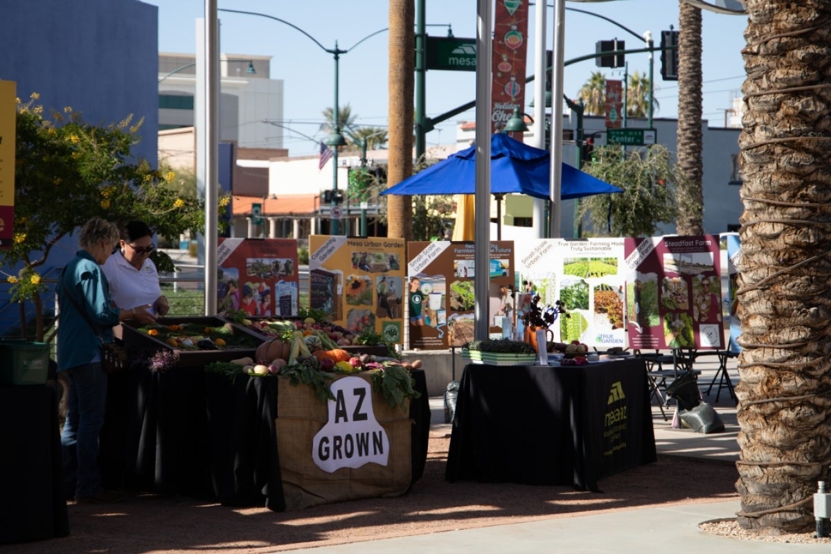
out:
<path id="1" fill-rule="evenodd" d="M 424 474 L 430 401 L 413 370 L 412 482 Z M 278 458 L 277 377 L 234 381 L 202 368 L 112 374 L 101 433 L 105 484 L 285 509 Z"/>

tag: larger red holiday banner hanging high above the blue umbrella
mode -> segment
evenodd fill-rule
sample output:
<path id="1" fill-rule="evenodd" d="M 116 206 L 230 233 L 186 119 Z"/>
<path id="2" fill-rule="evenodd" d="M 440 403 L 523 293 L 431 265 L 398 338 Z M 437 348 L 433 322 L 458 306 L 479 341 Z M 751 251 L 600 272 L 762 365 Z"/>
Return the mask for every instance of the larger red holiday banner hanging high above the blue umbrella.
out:
<path id="1" fill-rule="evenodd" d="M 528 2 L 497 0 L 494 9 L 491 133 L 501 133 L 515 109 L 524 113 Z M 523 133 L 510 133 L 523 140 Z"/>

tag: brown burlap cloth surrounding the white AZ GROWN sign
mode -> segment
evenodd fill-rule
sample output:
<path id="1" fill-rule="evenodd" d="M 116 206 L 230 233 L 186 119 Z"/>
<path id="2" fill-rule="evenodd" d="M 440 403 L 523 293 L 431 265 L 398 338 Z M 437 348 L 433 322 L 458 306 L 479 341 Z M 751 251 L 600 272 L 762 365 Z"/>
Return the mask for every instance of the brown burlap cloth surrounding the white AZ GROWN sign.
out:
<path id="1" fill-rule="evenodd" d="M 371 385 L 370 375 L 354 376 Z M 365 463 L 333 473 L 323 471 L 312 458 L 313 438 L 327 424 L 327 403 L 317 400 L 308 385 L 292 386 L 288 380 L 280 380 L 277 405 L 275 425 L 287 510 L 357 498 L 396 497 L 410 487 L 413 422 L 409 400 L 404 409 L 391 408 L 381 395 L 372 392 L 372 410 L 389 439 L 386 466 Z"/>

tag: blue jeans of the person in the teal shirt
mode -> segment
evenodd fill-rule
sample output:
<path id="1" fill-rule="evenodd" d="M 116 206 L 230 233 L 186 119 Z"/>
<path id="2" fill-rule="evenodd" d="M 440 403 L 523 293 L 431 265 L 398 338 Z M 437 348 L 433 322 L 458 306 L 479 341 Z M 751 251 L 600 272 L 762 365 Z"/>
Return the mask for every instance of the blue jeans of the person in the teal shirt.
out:
<path id="1" fill-rule="evenodd" d="M 104 490 L 98 468 L 98 434 L 104 425 L 107 375 L 101 363 L 77 365 L 69 375 L 69 405 L 61 432 L 64 488 L 86 498 Z"/>

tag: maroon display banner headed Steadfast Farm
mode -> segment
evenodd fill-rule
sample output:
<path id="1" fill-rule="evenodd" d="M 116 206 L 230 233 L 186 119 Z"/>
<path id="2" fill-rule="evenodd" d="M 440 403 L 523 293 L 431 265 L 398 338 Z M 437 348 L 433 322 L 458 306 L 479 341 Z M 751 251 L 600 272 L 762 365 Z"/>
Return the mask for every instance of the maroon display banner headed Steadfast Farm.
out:
<path id="1" fill-rule="evenodd" d="M 632 348 L 724 348 L 718 235 L 626 238 L 624 254 Z"/>

